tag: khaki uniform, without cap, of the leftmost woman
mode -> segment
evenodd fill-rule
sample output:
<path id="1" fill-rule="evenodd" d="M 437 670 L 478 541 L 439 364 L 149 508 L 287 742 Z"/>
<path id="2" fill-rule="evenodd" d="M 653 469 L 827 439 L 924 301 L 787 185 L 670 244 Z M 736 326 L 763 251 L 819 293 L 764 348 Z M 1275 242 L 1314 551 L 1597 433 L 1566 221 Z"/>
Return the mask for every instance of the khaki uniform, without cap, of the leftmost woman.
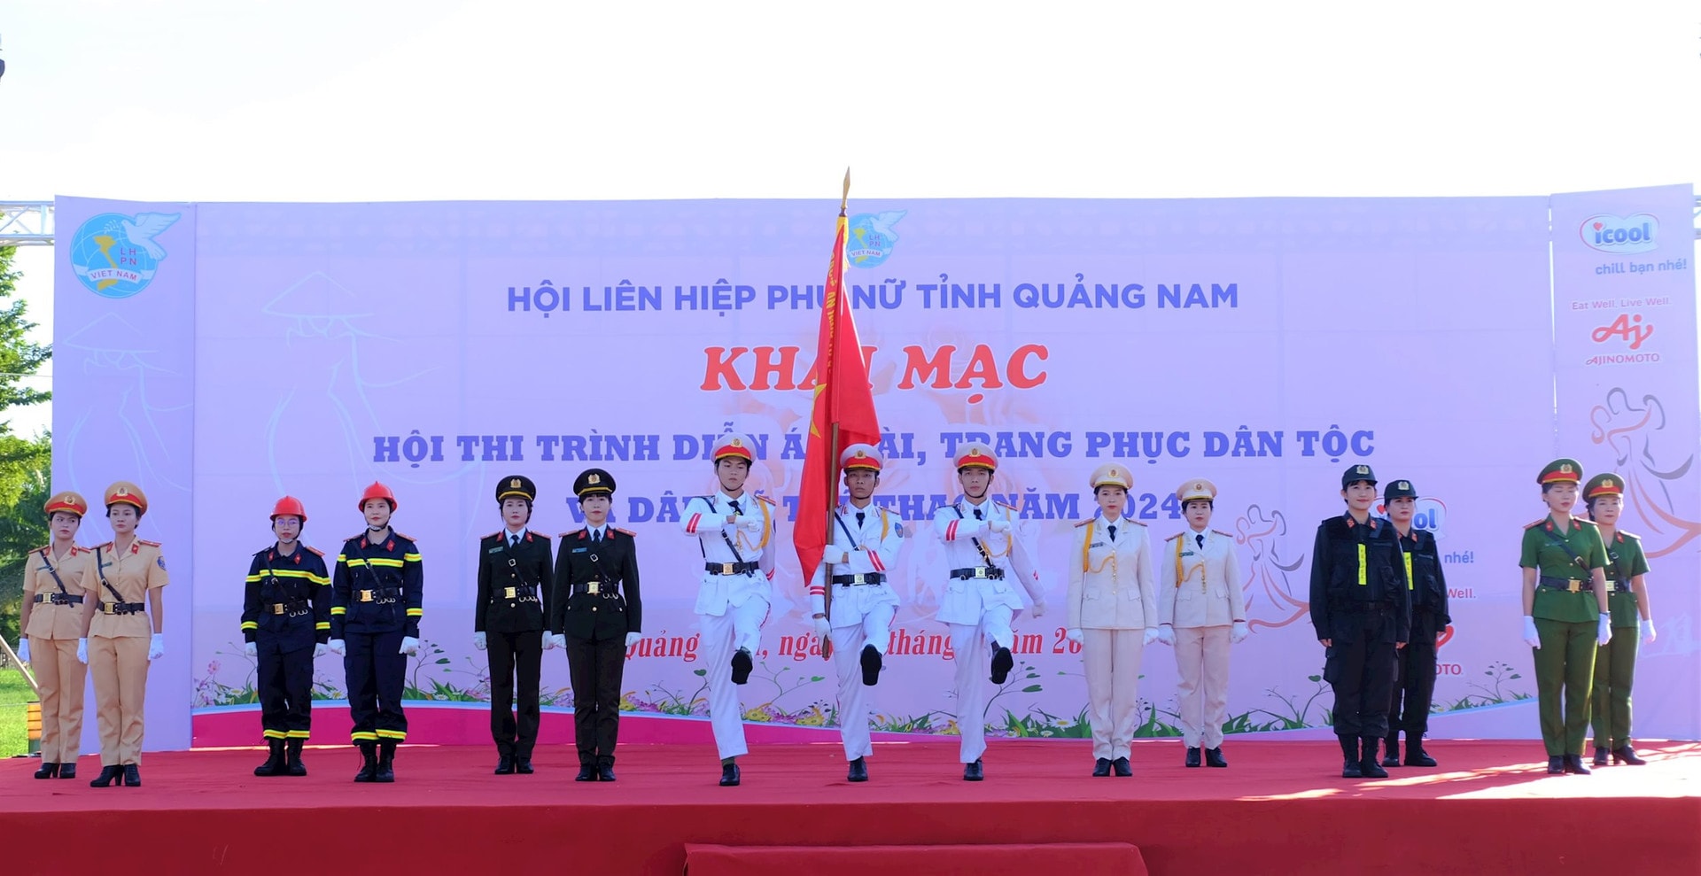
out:
<path id="1" fill-rule="evenodd" d="M 65 556 L 37 548 L 24 558 L 24 602 L 31 602 L 29 668 L 41 689 L 41 762 L 75 764 L 83 738 L 83 677 L 77 660 L 83 638 L 83 570 L 94 551 L 71 546 Z"/>

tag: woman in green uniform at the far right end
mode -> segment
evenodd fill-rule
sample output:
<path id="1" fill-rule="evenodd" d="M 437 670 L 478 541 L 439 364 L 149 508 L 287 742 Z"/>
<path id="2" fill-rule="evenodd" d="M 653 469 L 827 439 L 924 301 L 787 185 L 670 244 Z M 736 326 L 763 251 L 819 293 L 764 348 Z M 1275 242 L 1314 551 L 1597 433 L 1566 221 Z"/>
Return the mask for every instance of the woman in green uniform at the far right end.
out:
<path id="1" fill-rule="evenodd" d="M 1641 633 L 1643 640 L 1653 641 L 1648 558 L 1641 553 L 1640 538 L 1618 529 L 1618 515 L 1624 509 L 1623 497 L 1624 480 L 1618 475 L 1596 475 L 1584 486 L 1589 519 L 1601 529 L 1601 543 L 1606 544 L 1606 602 L 1613 607 L 1613 641 L 1602 645 L 1596 655 L 1590 697 L 1597 767 L 1606 765 L 1607 752 L 1613 752 L 1614 764 L 1636 767 L 1647 764 L 1630 745 L 1630 684 L 1636 675 L 1636 634 Z"/>

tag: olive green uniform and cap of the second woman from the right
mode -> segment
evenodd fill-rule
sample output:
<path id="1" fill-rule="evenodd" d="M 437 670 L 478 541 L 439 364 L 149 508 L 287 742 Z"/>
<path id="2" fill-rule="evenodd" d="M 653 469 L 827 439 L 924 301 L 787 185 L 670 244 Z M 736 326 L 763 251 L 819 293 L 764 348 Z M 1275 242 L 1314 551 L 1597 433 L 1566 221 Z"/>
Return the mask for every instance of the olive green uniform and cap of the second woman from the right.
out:
<path id="1" fill-rule="evenodd" d="M 1555 461 L 1548 468 L 1556 469 L 1562 463 L 1570 471 L 1543 469 L 1541 483 L 1575 481 L 1582 475 L 1582 466 L 1570 459 Z M 1534 650 L 1536 692 L 1541 742 L 1548 747 L 1548 757 L 1580 757 L 1584 750 L 1601 617 L 1590 573 L 1606 566 L 1601 531 L 1582 517 L 1570 517 L 1567 524 L 1562 532 L 1553 515 L 1548 515 L 1526 526 L 1517 561 L 1522 568 L 1536 570 L 1531 614 L 1541 641 L 1541 648 Z"/>

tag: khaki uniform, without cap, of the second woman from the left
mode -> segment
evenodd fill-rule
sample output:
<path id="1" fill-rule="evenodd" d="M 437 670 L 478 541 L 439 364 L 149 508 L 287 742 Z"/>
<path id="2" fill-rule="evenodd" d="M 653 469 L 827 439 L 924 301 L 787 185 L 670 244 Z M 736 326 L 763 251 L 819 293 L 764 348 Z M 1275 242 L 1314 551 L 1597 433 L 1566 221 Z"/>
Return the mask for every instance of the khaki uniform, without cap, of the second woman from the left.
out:
<path id="1" fill-rule="evenodd" d="M 165 555 L 156 541 L 131 541 L 116 551 L 95 548 L 83 575 L 83 594 L 95 600 L 88 624 L 88 672 L 95 682 L 95 723 L 100 765 L 141 764 L 143 699 L 148 692 L 148 641 L 153 624 L 146 606 L 151 590 L 168 583 Z"/>

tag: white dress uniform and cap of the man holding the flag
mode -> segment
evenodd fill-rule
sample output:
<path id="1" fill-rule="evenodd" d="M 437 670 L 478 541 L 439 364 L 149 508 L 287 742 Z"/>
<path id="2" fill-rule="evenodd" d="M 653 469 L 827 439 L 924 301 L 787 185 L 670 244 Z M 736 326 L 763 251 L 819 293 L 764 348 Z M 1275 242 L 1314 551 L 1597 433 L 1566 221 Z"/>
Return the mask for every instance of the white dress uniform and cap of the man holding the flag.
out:
<path id="1" fill-rule="evenodd" d="M 857 456 L 861 454 L 861 456 Z M 879 471 L 879 451 L 869 444 L 852 444 L 840 454 L 840 468 Z M 868 679 L 864 663 L 879 679 L 879 657 L 864 658 L 873 648 L 885 655 L 891 640 L 891 617 L 898 612 L 898 594 L 886 580 L 886 570 L 898 563 L 903 546 L 903 522 L 896 514 L 874 505 L 849 502 L 833 509 L 833 543 L 827 546 L 820 568 L 810 578 L 810 604 L 823 611 L 827 587 L 832 585 L 833 668 L 839 674 L 839 735 L 845 760 L 874 754 L 868 731 Z M 839 560 L 849 560 L 840 563 Z M 832 561 L 832 563 L 828 563 Z M 828 580 L 832 575 L 832 580 Z"/>

